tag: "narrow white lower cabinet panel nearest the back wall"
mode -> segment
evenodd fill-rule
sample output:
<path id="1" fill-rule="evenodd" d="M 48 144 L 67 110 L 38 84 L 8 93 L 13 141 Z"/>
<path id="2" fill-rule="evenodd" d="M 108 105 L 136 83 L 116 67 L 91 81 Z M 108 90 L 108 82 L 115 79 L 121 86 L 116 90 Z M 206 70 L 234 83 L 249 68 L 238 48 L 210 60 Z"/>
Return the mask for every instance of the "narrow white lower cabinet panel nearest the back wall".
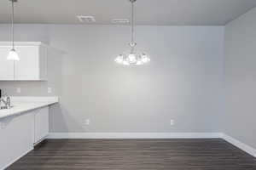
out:
<path id="1" fill-rule="evenodd" d="M 49 107 L 38 109 L 35 114 L 35 141 L 37 144 L 49 133 Z"/>

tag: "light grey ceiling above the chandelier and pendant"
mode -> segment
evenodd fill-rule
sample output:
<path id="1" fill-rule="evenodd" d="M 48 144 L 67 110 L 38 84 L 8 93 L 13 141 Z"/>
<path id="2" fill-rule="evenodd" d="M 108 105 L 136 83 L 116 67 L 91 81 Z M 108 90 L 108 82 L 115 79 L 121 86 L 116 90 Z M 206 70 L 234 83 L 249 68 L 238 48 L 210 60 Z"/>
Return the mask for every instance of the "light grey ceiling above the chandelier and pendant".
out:
<path id="1" fill-rule="evenodd" d="M 137 0 L 139 25 L 223 26 L 249 9 L 256 0 Z M 9 0 L 0 1 L 0 23 L 9 23 Z M 16 23 L 80 24 L 77 15 L 93 15 L 96 24 L 130 16 L 128 0 L 18 0 Z"/>

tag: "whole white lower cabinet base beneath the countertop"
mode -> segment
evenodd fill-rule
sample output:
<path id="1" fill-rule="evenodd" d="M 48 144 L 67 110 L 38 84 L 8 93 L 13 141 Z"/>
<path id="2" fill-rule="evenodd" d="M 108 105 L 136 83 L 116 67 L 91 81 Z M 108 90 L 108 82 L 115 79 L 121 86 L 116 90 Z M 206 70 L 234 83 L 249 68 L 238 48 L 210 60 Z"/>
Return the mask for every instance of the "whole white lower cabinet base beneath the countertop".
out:
<path id="1" fill-rule="evenodd" d="M 48 106 L 0 119 L 0 170 L 32 150 L 48 133 Z"/>

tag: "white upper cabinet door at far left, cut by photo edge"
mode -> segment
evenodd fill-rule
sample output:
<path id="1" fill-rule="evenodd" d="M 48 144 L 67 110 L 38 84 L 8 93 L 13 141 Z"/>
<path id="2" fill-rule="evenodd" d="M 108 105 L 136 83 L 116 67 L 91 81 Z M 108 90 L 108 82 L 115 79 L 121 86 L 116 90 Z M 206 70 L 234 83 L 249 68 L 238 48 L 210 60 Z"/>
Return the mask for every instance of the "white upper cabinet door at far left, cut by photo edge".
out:
<path id="1" fill-rule="evenodd" d="M 14 61 L 7 60 L 10 47 L 0 47 L 0 80 L 14 80 Z"/>

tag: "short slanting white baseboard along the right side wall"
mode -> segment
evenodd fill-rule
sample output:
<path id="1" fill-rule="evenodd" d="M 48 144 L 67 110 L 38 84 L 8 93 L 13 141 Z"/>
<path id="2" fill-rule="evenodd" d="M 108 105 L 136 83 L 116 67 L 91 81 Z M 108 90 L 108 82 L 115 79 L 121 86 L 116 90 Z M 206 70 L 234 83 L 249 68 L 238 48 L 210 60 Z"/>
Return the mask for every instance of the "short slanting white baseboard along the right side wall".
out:
<path id="1" fill-rule="evenodd" d="M 241 149 L 241 150 L 247 152 L 247 153 L 250 154 L 251 156 L 256 157 L 256 150 L 255 150 L 253 147 L 251 147 L 251 146 L 249 146 L 249 145 L 247 145 L 247 144 L 244 144 L 244 143 L 242 143 L 241 141 L 239 141 L 239 140 L 237 140 L 237 139 L 234 139 L 234 138 L 232 138 L 232 137 L 230 137 L 229 135 L 224 134 L 224 133 L 222 134 L 222 139 L 226 140 L 226 141 L 229 142 L 230 144 L 235 145 L 237 148 L 239 148 L 239 149 Z"/>

